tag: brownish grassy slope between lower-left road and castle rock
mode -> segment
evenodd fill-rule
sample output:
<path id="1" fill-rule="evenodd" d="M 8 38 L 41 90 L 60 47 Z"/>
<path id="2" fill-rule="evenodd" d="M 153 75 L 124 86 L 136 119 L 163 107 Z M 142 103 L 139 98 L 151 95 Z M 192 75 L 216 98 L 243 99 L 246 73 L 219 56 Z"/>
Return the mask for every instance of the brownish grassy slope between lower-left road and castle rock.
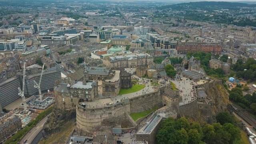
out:
<path id="1" fill-rule="evenodd" d="M 72 120 L 65 122 L 59 132 L 52 134 L 46 140 L 40 140 L 38 144 L 64 144 L 74 126 L 74 121 Z"/>

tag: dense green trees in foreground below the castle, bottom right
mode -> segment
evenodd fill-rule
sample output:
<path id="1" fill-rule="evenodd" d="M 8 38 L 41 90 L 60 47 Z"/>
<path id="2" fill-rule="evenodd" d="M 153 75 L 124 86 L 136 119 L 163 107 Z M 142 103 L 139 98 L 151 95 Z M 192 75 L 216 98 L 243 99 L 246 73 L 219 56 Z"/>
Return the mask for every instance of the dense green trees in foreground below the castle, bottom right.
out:
<path id="1" fill-rule="evenodd" d="M 217 123 L 206 125 L 184 117 L 166 118 L 156 134 L 157 144 L 233 144 L 240 140 L 240 129 L 232 124 L 234 117 L 227 112 L 217 117 Z"/>

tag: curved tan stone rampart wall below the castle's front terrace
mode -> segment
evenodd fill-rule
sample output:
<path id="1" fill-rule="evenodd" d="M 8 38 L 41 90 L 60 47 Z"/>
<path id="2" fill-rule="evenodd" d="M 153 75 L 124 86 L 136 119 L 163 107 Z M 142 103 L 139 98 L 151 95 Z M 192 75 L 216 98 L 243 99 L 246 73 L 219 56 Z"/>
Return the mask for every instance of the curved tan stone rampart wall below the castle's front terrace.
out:
<path id="1" fill-rule="evenodd" d="M 119 102 L 100 108 L 84 108 L 77 105 L 76 125 L 79 129 L 88 132 L 99 130 L 101 126 L 131 127 L 134 123 L 126 116 L 126 113 L 142 112 L 156 106 L 162 107 L 162 96 L 158 91 L 135 96 L 130 98 L 129 102 Z"/>

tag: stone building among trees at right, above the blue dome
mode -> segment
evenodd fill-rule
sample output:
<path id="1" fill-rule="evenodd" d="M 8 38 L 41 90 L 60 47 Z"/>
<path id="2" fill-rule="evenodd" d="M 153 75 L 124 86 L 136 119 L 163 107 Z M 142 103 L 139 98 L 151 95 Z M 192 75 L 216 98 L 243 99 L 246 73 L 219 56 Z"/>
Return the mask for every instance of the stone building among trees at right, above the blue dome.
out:
<path id="1" fill-rule="evenodd" d="M 214 69 L 222 68 L 224 70 L 225 74 L 228 74 L 228 72 L 230 70 L 230 64 L 229 63 L 222 62 L 222 61 L 217 60 L 215 58 L 211 59 L 209 61 L 209 64 L 210 64 L 210 68 L 214 68 Z"/>

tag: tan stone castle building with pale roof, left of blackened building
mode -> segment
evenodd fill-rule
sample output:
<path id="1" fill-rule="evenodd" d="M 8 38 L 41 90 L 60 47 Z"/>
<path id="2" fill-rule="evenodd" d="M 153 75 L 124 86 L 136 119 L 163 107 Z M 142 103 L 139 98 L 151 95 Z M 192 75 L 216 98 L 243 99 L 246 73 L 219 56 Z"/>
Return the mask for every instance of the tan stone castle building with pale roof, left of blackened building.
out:
<path id="1" fill-rule="evenodd" d="M 102 80 L 103 96 L 117 96 L 120 91 L 120 70 L 115 70 L 110 75 L 111 78 Z"/>

